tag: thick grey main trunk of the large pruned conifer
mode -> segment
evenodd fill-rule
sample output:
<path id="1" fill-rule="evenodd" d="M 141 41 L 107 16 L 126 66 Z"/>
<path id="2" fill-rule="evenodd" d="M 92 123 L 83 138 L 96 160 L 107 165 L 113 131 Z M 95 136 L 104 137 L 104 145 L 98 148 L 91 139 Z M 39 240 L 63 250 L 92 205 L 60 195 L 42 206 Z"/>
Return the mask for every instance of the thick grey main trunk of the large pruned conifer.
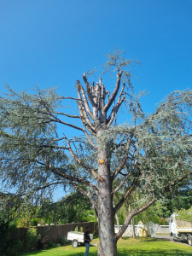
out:
<path id="1" fill-rule="evenodd" d="M 117 242 L 114 234 L 114 211 L 112 178 L 105 145 L 98 143 L 98 223 L 99 249 L 98 256 L 117 256 Z M 104 162 L 103 162 L 104 160 Z"/>

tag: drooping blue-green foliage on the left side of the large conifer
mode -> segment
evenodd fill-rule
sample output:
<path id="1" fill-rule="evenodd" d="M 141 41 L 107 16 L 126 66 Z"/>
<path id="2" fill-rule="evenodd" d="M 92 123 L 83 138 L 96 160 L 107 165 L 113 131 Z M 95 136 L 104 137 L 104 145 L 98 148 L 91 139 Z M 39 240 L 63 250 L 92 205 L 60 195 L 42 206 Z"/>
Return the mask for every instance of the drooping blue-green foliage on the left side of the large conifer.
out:
<path id="1" fill-rule="evenodd" d="M 60 106 L 60 100 L 55 90 L 40 91 L 37 88 L 33 94 L 8 90 L 8 95 L 0 97 L 0 167 L 7 170 L 7 174 L 1 172 L 0 177 L 5 188 L 11 187 L 20 195 L 36 192 L 34 198 L 37 200 L 43 195 L 38 193 L 39 187 L 55 180 L 55 175 L 50 170 L 44 172 L 46 168 L 40 164 L 44 162 L 45 154 L 49 163 L 71 169 L 66 165 L 66 154 L 53 149 L 57 144 L 56 126 L 49 121 L 48 115 Z M 43 145 L 49 147 L 43 150 Z M 10 162 L 10 158 L 15 160 Z M 49 186 L 45 188 L 49 189 Z M 47 195 L 48 192 L 51 191 L 48 190 Z"/>

